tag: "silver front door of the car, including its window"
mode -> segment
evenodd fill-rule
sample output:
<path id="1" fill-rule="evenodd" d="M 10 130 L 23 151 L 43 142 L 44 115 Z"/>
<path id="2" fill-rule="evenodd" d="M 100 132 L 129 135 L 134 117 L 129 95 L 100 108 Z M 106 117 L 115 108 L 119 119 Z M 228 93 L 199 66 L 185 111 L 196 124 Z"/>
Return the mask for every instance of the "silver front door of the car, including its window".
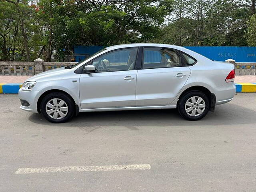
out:
<path id="1" fill-rule="evenodd" d="M 114 50 L 92 61 L 96 72 L 80 77 L 82 109 L 136 106 L 137 51 L 138 48 Z"/>

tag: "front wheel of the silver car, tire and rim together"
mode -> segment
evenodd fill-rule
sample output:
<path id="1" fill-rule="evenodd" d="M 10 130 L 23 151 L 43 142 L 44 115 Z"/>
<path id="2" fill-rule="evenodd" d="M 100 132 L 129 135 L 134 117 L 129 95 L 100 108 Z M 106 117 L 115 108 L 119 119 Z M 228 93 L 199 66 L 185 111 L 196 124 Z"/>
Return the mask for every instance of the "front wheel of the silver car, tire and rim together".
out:
<path id="1" fill-rule="evenodd" d="M 42 99 L 40 109 L 44 118 L 52 123 L 67 122 L 75 114 L 75 105 L 72 98 L 61 92 L 46 95 Z"/>

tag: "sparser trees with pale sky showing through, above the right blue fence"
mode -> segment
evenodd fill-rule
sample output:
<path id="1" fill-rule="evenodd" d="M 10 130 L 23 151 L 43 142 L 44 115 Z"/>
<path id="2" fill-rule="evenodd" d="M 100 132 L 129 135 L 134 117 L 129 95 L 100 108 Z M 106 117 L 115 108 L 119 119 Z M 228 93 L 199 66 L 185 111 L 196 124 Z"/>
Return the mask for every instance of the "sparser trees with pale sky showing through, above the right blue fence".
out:
<path id="1" fill-rule="evenodd" d="M 249 2 L 236 0 L 176 0 L 154 42 L 181 46 L 246 46 Z"/>

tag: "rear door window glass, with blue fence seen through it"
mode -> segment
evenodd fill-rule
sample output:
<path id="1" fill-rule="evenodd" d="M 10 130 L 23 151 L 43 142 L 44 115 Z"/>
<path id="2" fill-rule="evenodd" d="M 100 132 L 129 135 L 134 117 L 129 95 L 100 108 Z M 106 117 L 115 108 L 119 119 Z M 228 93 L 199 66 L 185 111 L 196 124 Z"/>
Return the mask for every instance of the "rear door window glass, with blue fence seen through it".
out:
<path id="1" fill-rule="evenodd" d="M 169 48 L 144 48 L 143 69 L 183 66 L 180 54 Z"/>

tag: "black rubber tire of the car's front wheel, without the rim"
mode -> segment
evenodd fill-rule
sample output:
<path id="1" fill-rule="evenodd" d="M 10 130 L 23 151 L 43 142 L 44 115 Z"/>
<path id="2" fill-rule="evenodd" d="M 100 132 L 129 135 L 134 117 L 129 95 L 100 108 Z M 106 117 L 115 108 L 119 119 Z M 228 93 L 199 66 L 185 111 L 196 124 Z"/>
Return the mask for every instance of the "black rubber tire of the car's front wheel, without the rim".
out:
<path id="1" fill-rule="evenodd" d="M 47 102 L 54 98 L 60 98 L 60 99 L 64 100 L 66 102 L 66 104 L 68 105 L 68 114 L 62 119 L 53 119 L 50 116 L 48 116 L 48 114 L 46 113 L 45 106 L 46 106 Z M 42 114 L 44 115 L 44 118 L 46 118 L 46 120 L 48 120 L 52 123 L 64 123 L 64 122 L 70 120 L 70 118 L 72 118 L 72 116 L 74 116 L 75 106 L 74 106 L 74 103 L 72 102 L 72 99 L 67 94 L 60 93 L 60 92 L 53 92 L 53 93 L 46 95 L 43 98 L 41 105 L 40 105 L 40 109 L 41 109 Z"/>

